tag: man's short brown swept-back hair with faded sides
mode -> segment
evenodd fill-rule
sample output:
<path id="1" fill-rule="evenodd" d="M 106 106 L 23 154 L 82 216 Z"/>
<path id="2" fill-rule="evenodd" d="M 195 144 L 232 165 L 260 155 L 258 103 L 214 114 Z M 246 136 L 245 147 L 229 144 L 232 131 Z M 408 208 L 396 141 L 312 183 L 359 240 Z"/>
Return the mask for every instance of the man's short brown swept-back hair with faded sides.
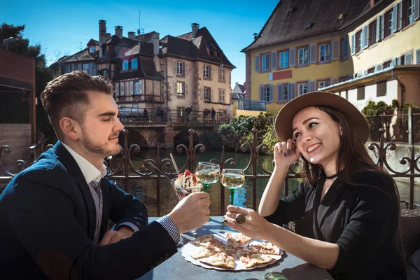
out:
<path id="1" fill-rule="evenodd" d="M 112 95 L 113 84 L 104 76 L 89 76 L 83 71 L 73 71 L 51 80 L 41 93 L 42 105 L 58 139 L 64 136 L 59 120 L 68 117 L 80 124 L 85 120 L 89 106 L 88 90 Z"/>

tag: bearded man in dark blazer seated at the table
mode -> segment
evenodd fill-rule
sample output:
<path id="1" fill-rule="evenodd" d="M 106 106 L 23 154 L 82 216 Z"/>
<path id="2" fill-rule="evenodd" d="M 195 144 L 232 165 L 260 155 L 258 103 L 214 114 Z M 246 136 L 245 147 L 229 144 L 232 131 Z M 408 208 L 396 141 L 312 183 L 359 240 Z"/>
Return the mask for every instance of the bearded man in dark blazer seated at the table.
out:
<path id="1" fill-rule="evenodd" d="M 209 221 L 209 195 L 193 193 L 148 224 L 144 204 L 104 178 L 104 158 L 121 151 L 112 94 L 111 81 L 82 71 L 45 87 L 59 141 L 0 196 L 1 279 L 135 279 Z"/>

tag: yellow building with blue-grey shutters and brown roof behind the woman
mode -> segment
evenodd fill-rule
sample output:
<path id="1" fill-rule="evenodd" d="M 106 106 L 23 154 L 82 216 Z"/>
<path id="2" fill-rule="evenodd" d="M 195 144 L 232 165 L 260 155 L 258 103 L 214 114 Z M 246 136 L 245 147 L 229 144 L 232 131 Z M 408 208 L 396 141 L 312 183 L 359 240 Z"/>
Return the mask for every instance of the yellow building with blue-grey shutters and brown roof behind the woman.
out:
<path id="1" fill-rule="evenodd" d="M 279 1 L 242 50 L 248 97 L 276 113 L 297 95 L 409 62 L 419 48 L 418 18 L 419 0 Z"/>

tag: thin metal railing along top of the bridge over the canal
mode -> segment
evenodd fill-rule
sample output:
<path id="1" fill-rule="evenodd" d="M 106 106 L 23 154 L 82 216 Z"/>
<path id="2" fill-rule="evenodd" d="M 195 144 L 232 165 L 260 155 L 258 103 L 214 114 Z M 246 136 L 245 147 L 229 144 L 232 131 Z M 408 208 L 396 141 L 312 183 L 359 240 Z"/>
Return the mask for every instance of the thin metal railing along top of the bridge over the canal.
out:
<path id="1" fill-rule="evenodd" d="M 144 109 L 125 108 L 120 109 L 119 118 L 125 121 L 136 122 L 155 122 L 155 123 L 229 123 L 230 113 L 215 112 L 211 115 L 211 111 L 191 111 L 187 113 L 184 109 L 180 110 L 153 110 L 144 111 Z"/>

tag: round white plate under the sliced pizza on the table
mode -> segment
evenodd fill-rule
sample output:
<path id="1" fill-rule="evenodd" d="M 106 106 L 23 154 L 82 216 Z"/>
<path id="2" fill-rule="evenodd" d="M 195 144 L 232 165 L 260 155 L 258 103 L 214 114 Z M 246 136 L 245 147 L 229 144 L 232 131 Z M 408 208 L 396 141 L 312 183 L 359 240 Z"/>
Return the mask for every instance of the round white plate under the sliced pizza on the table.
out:
<path id="1" fill-rule="evenodd" d="M 237 233 L 237 232 L 234 232 L 234 233 Z M 223 243 L 227 244 L 224 235 L 216 234 L 214 236 L 217 239 L 223 241 Z M 256 242 L 260 242 L 260 243 L 261 242 L 267 242 L 267 241 L 264 241 L 264 240 L 261 240 L 261 239 L 253 239 L 252 241 L 250 241 L 248 243 L 249 244 L 253 244 L 255 241 Z M 248 243 L 246 243 L 246 244 L 248 244 Z M 204 263 L 200 262 L 200 259 L 198 259 L 198 260 L 193 259 L 193 257 L 191 257 L 191 255 L 190 255 L 190 253 L 188 253 L 190 251 L 190 249 L 193 248 L 193 247 L 198 247 L 198 246 L 193 245 L 190 242 L 188 242 L 188 244 L 184 245 L 181 248 L 182 256 L 186 260 L 188 260 L 188 262 L 192 262 L 194 265 L 200 265 L 201 267 L 204 267 L 204 268 L 211 268 L 211 269 L 218 269 L 218 270 L 232 270 L 232 271 L 237 271 L 237 270 L 251 270 L 251 269 L 255 269 L 255 268 L 266 267 L 267 265 L 272 265 L 277 260 L 280 260 L 281 259 L 281 255 L 283 255 L 283 250 L 280 249 L 280 255 L 267 255 L 267 256 L 270 256 L 270 257 L 274 258 L 274 260 L 272 260 L 271 262 L 267 262 L 267 263 L 264 263 L 262 265 L 255 265 L 254 267 L 249 267 L 249 268 L 246 268 L 244 262 L 241 262 L 237 258 L 237 256 L 235 255 L 235 269 L 230 269 L 230 268 L 225 268 L 225 267 L 214 267 L 214 266 L 211 266 L 211 265 L 205 265 Z M 265 254 L 261 254 L 261 255 L 265 255 Z"/>

